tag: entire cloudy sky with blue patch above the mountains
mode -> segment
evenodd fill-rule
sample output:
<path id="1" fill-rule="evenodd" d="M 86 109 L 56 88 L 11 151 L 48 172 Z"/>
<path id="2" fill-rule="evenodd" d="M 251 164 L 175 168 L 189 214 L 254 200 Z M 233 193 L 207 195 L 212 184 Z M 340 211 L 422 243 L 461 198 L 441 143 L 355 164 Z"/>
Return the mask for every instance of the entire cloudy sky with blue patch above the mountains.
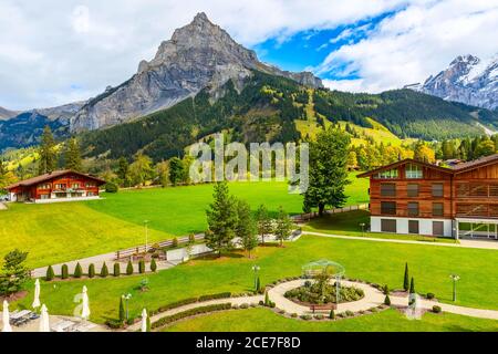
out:
<path id="1" fill-rule="evenodd" d="M 498 0 L 1 0 L 0 106 L 93 97 L 198 12 L 262 61 L 342 91 L 403 87 L 498 51 Z"/>

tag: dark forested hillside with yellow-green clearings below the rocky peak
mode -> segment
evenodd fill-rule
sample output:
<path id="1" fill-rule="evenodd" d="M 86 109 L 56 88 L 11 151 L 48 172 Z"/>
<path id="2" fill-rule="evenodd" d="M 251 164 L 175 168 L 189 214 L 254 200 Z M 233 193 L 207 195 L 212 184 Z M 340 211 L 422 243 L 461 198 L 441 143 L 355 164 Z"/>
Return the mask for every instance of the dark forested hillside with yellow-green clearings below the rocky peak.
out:
<path id="1" fill-rule="evenodd" d="M 186 146 L 221 131 L 243 143 L 291 142 L 312 138 L 332 123 L 351 123 L 361 135 L 401 145 L 405 138 L 480 135 L 477 122 L 491 125 L 498 114 L 411 90 L 331 92 L 255 71 L 240 93 L 229 81 L 215 93 L 203 90 L 144 118 L 84 133 L 82 140 L 86 156 L 117 158 L 143 152 L 157 162 L 183 155 Z"/>

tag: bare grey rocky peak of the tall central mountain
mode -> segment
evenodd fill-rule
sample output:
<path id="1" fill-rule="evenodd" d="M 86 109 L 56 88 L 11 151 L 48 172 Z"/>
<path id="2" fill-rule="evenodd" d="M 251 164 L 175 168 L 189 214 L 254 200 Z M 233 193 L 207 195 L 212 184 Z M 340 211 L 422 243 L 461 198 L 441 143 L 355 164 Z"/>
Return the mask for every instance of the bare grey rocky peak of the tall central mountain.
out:
<path id="1" fill-rule="evenodd" d="M 321 87 L 313 74 L 290 73 L 261 63 L 256 53 L 235 42 L 205 13 L 177 29 L 160 43 L 156 56 L 142 61 L 137 73 L 89 102 L 71 119 L 72 131 L 97 129 L 169 107 L 208 87 L 215 92 L 228 80 L 241 88 L 243 79 L 259 70 L 303 85 Z"/>

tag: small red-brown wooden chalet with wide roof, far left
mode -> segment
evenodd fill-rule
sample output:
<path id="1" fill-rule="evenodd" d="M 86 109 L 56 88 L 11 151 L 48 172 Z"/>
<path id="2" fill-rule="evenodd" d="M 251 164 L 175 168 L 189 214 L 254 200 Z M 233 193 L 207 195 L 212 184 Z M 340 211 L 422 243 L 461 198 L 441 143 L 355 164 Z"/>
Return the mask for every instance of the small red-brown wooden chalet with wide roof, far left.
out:
<path id="1" fill-rule="evenodd" d="M 7 187 L 11 201 L 50 202 L 98 197 L 104 180 L 72 170 L 59 170 Z"/>

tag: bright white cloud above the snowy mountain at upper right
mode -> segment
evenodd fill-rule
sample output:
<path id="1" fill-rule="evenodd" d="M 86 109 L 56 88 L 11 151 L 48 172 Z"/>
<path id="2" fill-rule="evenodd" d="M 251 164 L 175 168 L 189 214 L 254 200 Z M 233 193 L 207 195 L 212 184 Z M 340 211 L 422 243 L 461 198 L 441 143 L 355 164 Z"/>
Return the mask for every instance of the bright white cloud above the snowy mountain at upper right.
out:
<path id="1" fill-rule="evenodd" d="M 315 72 L 356 80 L 330 87 L 380 92 L 424 81 L 460 54 L 487 59 L 498 50 L 498 0 L 414 1 L 383 20 L 369 38 L 331 52 Z"/>

